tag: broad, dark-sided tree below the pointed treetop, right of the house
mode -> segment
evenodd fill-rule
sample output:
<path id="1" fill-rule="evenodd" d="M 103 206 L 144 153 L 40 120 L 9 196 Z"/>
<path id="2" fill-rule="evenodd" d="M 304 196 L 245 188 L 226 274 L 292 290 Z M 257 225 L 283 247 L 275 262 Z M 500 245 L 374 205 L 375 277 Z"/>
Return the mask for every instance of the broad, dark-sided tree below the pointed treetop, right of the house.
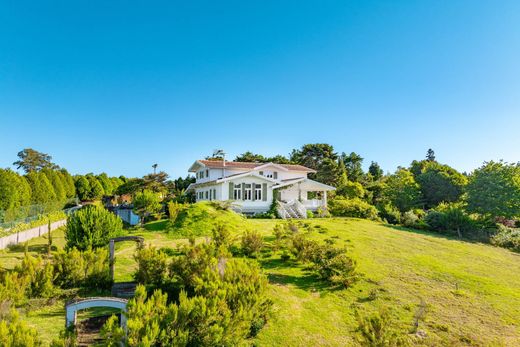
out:
<path id="1" fill-rule="evenodd" d="M 427 208 L 441 202 L 455 202 L 460 199 L 468 183 L 466 176 L 457 170 L 435 161 L 428 162 L 416 176 Z"/>

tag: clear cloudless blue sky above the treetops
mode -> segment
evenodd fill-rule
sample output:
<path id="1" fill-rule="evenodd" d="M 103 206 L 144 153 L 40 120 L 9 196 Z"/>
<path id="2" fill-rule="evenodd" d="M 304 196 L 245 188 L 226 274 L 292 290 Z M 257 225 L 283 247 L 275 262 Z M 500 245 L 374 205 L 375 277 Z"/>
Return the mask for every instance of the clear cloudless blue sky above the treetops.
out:
<path id="1" fill-rule="evenodd" d="M 184 176 L 314 142 L 520 160 L 520 1 L 0 1 L 0 167 Z"/>

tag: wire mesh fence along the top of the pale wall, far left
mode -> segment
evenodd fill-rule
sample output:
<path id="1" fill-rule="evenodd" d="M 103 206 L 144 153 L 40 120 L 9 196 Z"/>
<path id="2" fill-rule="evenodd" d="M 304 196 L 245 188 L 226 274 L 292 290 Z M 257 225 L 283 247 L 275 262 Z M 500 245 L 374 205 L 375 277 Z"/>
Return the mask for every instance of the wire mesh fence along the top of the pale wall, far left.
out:
<path id="1" fill-rule="evenodd" d="M 63 211 L 69 214 L 77 209 L 78 205 L 79 200 L 75 198 L 69 199 L 65 203 L 51 202 L 47 204 L 22 206 L 10 210 L 0 210 L 0 229 L 9 230 L 21 223 L 31 223 L 53 212 Z M 64 209 L 64 206 L 69 207 Z"/>

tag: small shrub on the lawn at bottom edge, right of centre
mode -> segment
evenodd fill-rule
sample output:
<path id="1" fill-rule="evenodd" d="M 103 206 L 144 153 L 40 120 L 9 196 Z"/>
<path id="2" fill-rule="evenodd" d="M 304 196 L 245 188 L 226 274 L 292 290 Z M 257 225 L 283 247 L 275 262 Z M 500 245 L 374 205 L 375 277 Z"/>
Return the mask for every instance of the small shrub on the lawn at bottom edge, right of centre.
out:
<path id="1" fill-rule="evenodd" d="M 356 311 L 358 327 L 357 341 L 367 347 L 408 346 L 408 337 L 395 328 L 391 312 L 381 309 L 373 314 L 361 314 Z"/>

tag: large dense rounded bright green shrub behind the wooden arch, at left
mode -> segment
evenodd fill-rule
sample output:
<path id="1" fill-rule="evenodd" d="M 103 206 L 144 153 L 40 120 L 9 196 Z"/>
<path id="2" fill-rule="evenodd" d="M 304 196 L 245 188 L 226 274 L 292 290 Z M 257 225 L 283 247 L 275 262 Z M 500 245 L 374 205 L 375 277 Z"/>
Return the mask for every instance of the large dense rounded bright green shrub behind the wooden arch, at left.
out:
<path id="1" fill-rule="evenodd" d="M 123 222 L 115 214 L 103 207 L 88 205 L 67 218 L 66 247 L 76 247 L 82 251 L 103 247 L 122 229 Z"/>

